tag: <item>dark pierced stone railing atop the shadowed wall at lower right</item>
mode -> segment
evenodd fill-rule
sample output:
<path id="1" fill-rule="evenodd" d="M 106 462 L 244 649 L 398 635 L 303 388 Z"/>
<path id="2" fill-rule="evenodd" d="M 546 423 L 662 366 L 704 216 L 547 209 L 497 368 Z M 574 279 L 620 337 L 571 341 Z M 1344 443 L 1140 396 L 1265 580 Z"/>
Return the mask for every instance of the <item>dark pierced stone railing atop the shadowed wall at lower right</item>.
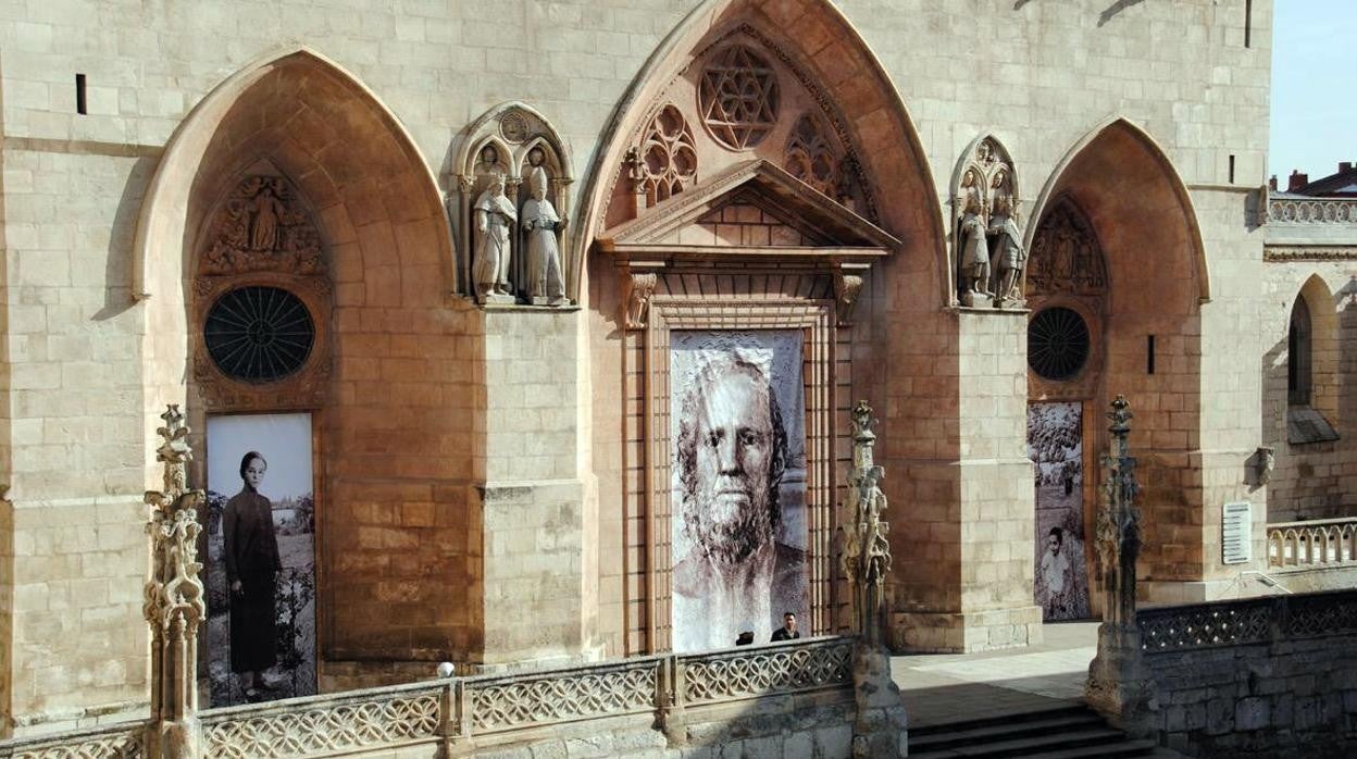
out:
<path id="1" fill-rule="evenodd" d="M 1357 591 L 1270 596 L 1136 612 L 1145 653 L 1357 633 Z"/>

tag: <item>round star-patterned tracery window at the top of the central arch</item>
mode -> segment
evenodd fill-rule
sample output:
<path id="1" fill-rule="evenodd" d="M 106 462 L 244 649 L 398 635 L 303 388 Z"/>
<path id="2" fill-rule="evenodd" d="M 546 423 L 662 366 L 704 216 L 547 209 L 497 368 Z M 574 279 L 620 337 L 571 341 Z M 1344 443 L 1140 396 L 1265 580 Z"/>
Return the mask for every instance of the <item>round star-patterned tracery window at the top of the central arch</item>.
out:
<path id="1" fill-rule="evenodd" d="M 737 151 L 752 148 L 778 121 L 778 75 L 749 48 L 726 48 L 702 72 L 697 107 L 718 143 Z"/>

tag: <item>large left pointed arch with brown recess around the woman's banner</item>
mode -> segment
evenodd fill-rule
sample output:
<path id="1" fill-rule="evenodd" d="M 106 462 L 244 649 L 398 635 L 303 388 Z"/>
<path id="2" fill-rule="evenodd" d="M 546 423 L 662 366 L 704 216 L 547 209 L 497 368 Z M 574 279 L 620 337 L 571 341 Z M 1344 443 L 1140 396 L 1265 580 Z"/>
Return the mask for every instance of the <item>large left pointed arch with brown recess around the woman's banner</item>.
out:
<path id="1" fill-rule="evenodd" d="M 202 372 L 205 307 L 216 293 L 255 284 L 248 277 L 267 272 L 248 265 L 205 272 L 198 254 L 223 239 L 210 223 L 214 209 L 259 175 L 281 177 L 289 194 L 294 190 L 324 259 L 316 285 L 324 297 L 308 308 L 330 326 L 315 350 L 332 360 L 311 386 L 293 382 L 300 375 L 273 386 L 285 398 L 307 391 L 304 403 L 262 407 L 258 396 L 273 387 L 254 396 L 205 391 L 214 382 Z M 474 534 L 468 523 L 479 519 L 470 520 L 467 509 L 452 517 L 461 520 L 455 528 L 432 519 L 403 525 L 399 549 L 358 538 L 372 524 L 366 504 L 427 511 L 436 489 L 460 492 L 472 479 L 468 452 L 483 437 L 474 430 L 475 394 L 464 387 L 480 377 L 459 345 L 480 325 L 467 316 L 470 306 L 448 297 L 452 250 L 437 182 L 404 126 L 351 73 L 304 48 L 265 56 L 209 92 L 167 147 L 142 208 L 134 276 L 144 299 L 148 414 L 166 402 L 186 403 L 199 432 L 209 414 L 312 414 L 313 471 L 323 473 L 315 478 L 323 578 L 316 608 L 324 615 L 318 629 L 326 660 L 476 656 L 468 646 L 480 638 L 480 604 L 459 573 L 472 559 L 457 553 L 470 549 L 449 553 L 448 546 L 453 531 Z M 456 390 L 448 390 L 449 376 L 461 379 Z M 396 553 L 413 558 L 380 581 L 403 574 L 408 591 L 384 595 L 379 576 L 362 566 L 388 563 Z M 441 580 L 414 577 L 432 566 L 442 568 Z M 429 608 L 434 597 L 456 597 L 470 611 L 456 619 L 415 612 L 415 604 Z M 391 622 L 364 627 L 372 619 Z"/>

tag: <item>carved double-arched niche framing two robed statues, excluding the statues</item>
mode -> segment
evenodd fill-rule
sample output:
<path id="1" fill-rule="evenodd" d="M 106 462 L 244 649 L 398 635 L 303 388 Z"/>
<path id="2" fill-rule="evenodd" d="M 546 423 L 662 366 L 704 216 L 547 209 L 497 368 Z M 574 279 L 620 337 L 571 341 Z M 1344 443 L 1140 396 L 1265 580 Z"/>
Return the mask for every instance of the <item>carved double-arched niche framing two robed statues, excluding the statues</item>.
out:
<path id="1" fill-rule="evenodd" d="M 518 210 L 510 232 L 509 284 L 514 299 L 533 303 L 528 292 L 528 234 L 522 228 L 522 209 L 531 197 L 531 182 L 535 170 L 540 168 L 547 179 L 547 200 L 562 220 L 570 220 L 569 187 L 574 181 L 570 168 L 570 153 L 555 128 L 544 115 L 525 103 L 501 103 L 467 128 L 460 137 L 453 159 L 452 193 L 448 200 L 448 217 L 456 225 L 457 240 L 457 292 L 474 295 L 472 263 L 476 250 L 476 229 L 474 206 L 478 198 L 491 185 L 493 175 L 505 179 L 505 196 Z M 559 229 L 559 228 L 558 228 Z M 566 277 L 565 291 L 574 297 L 575 284 L 569 281 L 574 272 L 574 251 L 570 248 L 571 235 L 555 232 L 560 250 L 560 270 Z M 562 304 L 563 304 L 562 303 Z"/>

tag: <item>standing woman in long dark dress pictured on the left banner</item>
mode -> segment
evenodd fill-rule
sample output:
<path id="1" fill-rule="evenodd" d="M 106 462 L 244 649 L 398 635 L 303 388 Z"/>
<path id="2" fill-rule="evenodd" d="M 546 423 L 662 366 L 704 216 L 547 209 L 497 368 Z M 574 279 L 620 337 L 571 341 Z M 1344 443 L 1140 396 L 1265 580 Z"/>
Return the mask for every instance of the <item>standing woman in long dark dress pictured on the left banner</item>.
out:
<path id="1" fill-rule="evenodd" d="M 227 584 L 231 592 L 231 671 L 247 701 L 259 701 L 263 671 L 277 657 L 274 592 L 282 559 L 273 525 L 273 504 L 259 494 L 269 464 L 255 451 L 240 459 L 240 493 L 221 515 Z"/>

